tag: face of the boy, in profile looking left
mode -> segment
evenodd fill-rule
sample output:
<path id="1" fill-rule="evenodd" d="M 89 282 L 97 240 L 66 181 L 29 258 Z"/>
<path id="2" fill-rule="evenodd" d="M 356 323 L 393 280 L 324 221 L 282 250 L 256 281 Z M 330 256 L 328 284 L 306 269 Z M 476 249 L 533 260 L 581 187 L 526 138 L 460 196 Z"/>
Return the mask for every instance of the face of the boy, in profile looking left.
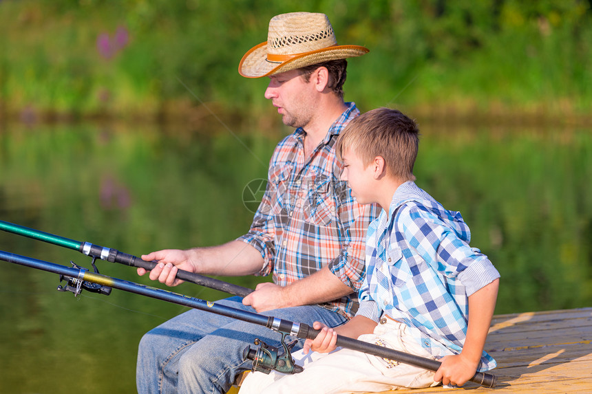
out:
<path id="1" fill-rule="evenodd" d="M 352 196 L 359 204 L 375 202 L 372 199 L 372 179 L 374 179 L 372 166 L 365 166 L 352 149 L 344 151 L 341 159 L 343 160 L 343 173 L 339 178 L 348 182 L 352 189 Z"/>

